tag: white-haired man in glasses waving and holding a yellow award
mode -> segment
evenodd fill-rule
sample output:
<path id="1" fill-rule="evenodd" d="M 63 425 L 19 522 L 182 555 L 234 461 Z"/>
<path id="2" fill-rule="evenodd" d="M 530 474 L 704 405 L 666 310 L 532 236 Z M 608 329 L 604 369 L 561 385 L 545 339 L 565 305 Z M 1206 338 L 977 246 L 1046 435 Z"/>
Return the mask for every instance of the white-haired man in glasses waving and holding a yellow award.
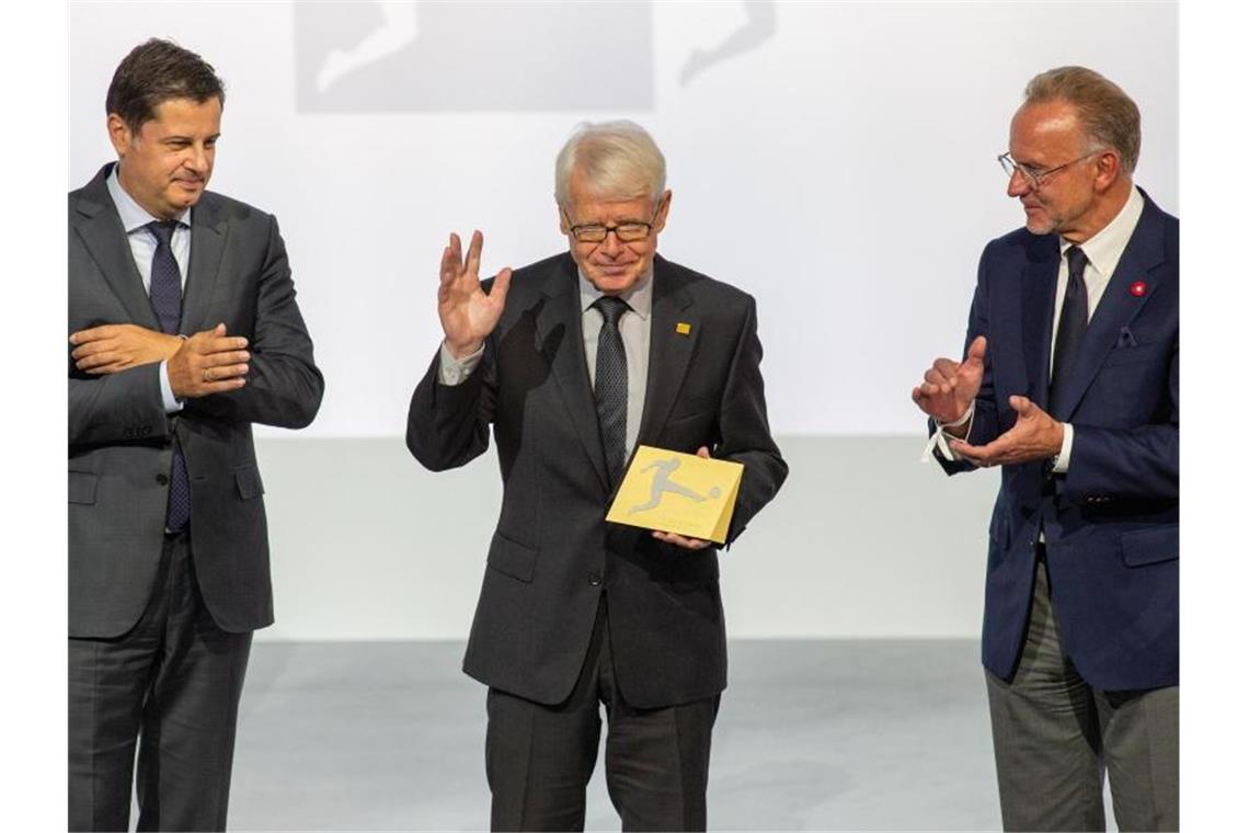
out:
<path id="1" fill-rule="evenodd" d="M 436 471 L 486 451 L 503 478 L 465 672 L 490 687 L 492 829 L 581 829 L 606 707 L 624 829 L 704 829 L 726 687 L 718 547 L 608 525 L 638 445 L 743 463 L 729 543 L 784 481 L 754 300 L 656 254 L 663 155 L 627 121 L 556 160 L 568 251 L 478 280 L 482 236 L 442 254 L 445 338 L 407 445 Z M 462 557 L 462 553 L 450 553 Z"/>

